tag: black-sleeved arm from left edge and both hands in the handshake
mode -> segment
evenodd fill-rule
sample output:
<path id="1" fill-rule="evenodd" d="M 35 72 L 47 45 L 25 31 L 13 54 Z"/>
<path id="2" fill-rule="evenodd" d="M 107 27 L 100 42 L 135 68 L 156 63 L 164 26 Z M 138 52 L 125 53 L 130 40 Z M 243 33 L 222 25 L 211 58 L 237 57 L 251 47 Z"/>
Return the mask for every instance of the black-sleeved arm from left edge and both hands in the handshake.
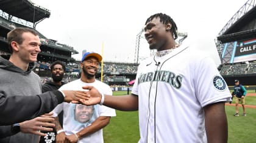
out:
<path id="1" fill-rule="evenodd" d="M 5 117 L 0 119 L 0 125 L 12 125 L 17 122 L 33 119 L 44 113 L 49 113 L 57 104 L 62 102 L 95 105 L 104 101 L 104 96 L 101 96 L 101 93 L 96 88 L 91 86 L 85 86 L 83 88 L 85 91 L 53 90 L 37 96 L 9 96 L 0 93 L 0 97 L 3 98 L 0 104 L 0 116 Z M 24 108 L 24 110 L 20 111 L 21 107 L 24 107 L 24 104 L 31 105 L 34 108 Z M 15 118 L 12 118 L 13 113 L 16 115 Z"/>

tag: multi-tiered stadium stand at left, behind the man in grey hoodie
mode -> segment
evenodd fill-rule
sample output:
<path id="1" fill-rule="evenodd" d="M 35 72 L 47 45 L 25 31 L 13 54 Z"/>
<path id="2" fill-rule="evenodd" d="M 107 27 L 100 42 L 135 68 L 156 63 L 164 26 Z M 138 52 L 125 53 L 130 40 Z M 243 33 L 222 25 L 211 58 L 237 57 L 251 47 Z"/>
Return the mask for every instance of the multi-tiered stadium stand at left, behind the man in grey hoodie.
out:
<path id="1" fill-rule="evenodd" d="M 9 48 L 7 44 L 7 33 L 15 27 L 29 27 L 35 26 L 49 18 L 50 11 L 32 1 L 19 0 L 2 0 L 0 1 L 0 46 L 1 54 L 8 54 Z M 35 29 L 36 30 L 36 29 Z M 36 30 L 37 31 L 37 30 Z M 38 32 L 38 31 L 37 31 Z M 41 41 L 41 53 L 38 54 L 37 68 L 35 69 L 40 76 L 51 76 L 49 66 L 51 63 L 60 60 L 65 62 L 66 72 L 73 72 L 77 70 L 72 67 L 73 62 L 76 62 L 71 55 L 78 54 L 73 47 L 61 44 L 53 39 L 46 38 L 42 33 L 38 32 Z"/>

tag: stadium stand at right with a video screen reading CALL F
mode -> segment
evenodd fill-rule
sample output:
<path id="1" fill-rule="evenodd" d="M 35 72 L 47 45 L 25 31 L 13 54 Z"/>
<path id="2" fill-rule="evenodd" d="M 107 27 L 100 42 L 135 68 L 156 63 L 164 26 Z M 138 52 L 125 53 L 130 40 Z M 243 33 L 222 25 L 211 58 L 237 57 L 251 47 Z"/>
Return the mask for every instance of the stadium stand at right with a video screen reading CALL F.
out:
<path id="1" fill-rule="evenodd" d="M 256 85 L 256 1 L 248 0 L 215 39 L 221 59 L 218 69 L 228 85 L 239 79 Z"/>

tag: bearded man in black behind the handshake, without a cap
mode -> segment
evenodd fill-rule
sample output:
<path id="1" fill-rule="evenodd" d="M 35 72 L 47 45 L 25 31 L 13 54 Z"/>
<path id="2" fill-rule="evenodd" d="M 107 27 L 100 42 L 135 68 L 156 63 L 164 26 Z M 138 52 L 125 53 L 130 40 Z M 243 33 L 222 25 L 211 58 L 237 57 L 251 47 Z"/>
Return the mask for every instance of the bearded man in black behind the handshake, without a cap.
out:
<path id="1" fill-rule="evenodd" d="M 52 81 L 48 81 L 42 85 L 42 92 L 58 90 L 65 82 L 62 81 L 64 73 L 65 73 L 65 64 L 62 61 L 55 61 L 51 65 L 51 74 Z M 59 121 L 62 125 L 63 123 L 63 111 L 59 114 Z M 46 136 L 40 137 L 40 143 L 49 142 L 51 140 L 52 143 L 55 142 L 56 131 L 46 132 Z"/>

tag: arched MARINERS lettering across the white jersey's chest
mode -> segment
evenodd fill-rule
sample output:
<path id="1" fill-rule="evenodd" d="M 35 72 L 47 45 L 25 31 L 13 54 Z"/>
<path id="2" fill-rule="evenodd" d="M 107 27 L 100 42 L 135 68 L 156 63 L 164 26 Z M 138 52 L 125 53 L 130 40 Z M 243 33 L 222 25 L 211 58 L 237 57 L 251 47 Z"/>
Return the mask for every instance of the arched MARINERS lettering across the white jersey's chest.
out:
<path id="1" fill-rule="evenodd" d="M 144 73 L 140 75 L 138 79 L 138 84 L 143 82 L 152 82 L 152 81 L 162 81 L 169 83 L 172 87 L 180 88 L 182 86 L 182 76 L 176 75 L 171 71 L 155 71 Z"/>

